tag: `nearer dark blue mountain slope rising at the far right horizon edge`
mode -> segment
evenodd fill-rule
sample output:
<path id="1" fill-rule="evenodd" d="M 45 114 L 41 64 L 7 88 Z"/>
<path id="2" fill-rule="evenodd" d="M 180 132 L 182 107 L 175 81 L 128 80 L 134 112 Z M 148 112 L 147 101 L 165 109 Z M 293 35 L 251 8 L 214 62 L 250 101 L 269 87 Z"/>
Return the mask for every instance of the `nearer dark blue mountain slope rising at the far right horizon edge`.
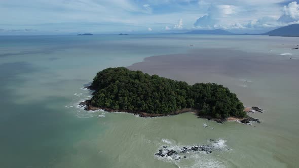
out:
<path id="1" fill-rule="evenodd" d="M 292 24 L 278 29 L 263 33 L 260 35 L 270 35 L 270 36 L 299 36 L 299 24 Z"/>

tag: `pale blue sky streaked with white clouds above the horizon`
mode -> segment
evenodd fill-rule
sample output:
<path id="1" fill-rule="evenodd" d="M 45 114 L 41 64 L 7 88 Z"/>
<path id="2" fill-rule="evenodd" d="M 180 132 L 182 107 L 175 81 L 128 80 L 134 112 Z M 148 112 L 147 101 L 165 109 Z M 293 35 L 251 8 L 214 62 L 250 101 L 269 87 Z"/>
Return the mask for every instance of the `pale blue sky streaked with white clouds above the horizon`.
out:
<path id="1" fill-rule="evenodd" d="M 263 33 L 299 24 L 298 2 L 0 0 L 0 35 L 177 33 L 197 29 Z"/>

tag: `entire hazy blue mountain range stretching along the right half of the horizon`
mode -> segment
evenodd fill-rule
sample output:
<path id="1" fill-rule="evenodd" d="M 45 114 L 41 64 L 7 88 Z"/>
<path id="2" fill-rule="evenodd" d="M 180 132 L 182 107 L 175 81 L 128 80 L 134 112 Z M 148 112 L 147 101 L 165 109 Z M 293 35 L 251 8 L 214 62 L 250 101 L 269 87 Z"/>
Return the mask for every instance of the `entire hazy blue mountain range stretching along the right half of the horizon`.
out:
<path id="1" fill-rule="evenodd" d="M 284 27 L 277 28 L 267 33 L 261 34 L 236 34 L 227 30 L 215 29 L 215 30 L 193 30 L 186 32 L 186 34 L 226 34 L 226 35 L 270 35 L 270 36 L 299 36 L 299 24 L 292 24 Z"/>

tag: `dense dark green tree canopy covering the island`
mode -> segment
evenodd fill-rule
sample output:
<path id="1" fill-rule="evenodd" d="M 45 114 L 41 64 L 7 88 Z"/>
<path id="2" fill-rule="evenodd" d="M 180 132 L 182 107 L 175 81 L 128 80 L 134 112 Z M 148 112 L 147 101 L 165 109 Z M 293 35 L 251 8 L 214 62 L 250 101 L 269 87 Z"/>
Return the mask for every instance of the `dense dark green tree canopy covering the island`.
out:
<path id="1" fill-rule="evenodd" d="M 183 108 L 196 108 L 215 118 L 244 117 L 244 106 L 228 88 L 216 83 L 191 86 L 125 67 L 107 68 L 97 73 L 90 89 L 91 105 L 116 110 L 168 114 Z"/>

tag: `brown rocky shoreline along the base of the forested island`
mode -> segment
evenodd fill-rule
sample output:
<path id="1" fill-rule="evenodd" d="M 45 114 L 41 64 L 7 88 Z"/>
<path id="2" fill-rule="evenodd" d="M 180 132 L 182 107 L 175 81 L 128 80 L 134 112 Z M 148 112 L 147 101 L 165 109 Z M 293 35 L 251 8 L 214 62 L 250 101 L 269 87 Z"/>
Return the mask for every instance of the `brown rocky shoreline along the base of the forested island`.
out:
<path id="1" fill-rule="evenodd" d="M 218 123 L 223 123 L 223 122 L 228 121 L 228 120 L 237 120 L 237 121 L 240 121 L 240 122 L 245 123 L 245 124 L 250 124 L 250 122 L 260 123 L 259 119 L 256 119 L 256 118 L 253 118 L 253 117 L 250 117 L 250 116 L 246 116 L 244 118 L 234 118 L 234 119 L 231 119 L 231 118 L 226 118 L 226 119 L 213 118 L 211 116 L 200 115 L 200 111 L 197 110 L 197 109 L 194 109 L 194 108 L 184 108 L 184 109 L 177 110 L 173 113 L 168 113 L 168 114 L 149 114 L 149 113 L 140 112 L 140 111 L 116 110 L 116 109 L 111 109 L 111 108 L 95 107 L 95 106 L 91 105 L 90 100 L 86 100 L 84 102 L 81 102 L 81 103 L 79 103 L 79 105 L 85 105 L 86 107 L 84 109 L 87 110 L 87 111 L 104 110 L 106 112 L 125 112 L 125 113 L 131 113 L 131 114 L 139 115 L 140 117 L 162 117 L 162 116 L 172 116 L 172 115 L 182 114 L 182 113 L 186 113 L 186 112 L 193 112 L 193 113 L 196 113 L 199 116 L 199 118 L 206 118 L 208 120 L 216 121 Z M 263 111 L 262 109 L 259 109 L 258 107 L 252 107 L 252 108 L 250 108 L 250 110 L 248 110 L 247 108 L 245 109 L 245 111 L 248 112 L 248 113 L 253 112 L 252 110 L 258 111 L 258 112 Z"/>

